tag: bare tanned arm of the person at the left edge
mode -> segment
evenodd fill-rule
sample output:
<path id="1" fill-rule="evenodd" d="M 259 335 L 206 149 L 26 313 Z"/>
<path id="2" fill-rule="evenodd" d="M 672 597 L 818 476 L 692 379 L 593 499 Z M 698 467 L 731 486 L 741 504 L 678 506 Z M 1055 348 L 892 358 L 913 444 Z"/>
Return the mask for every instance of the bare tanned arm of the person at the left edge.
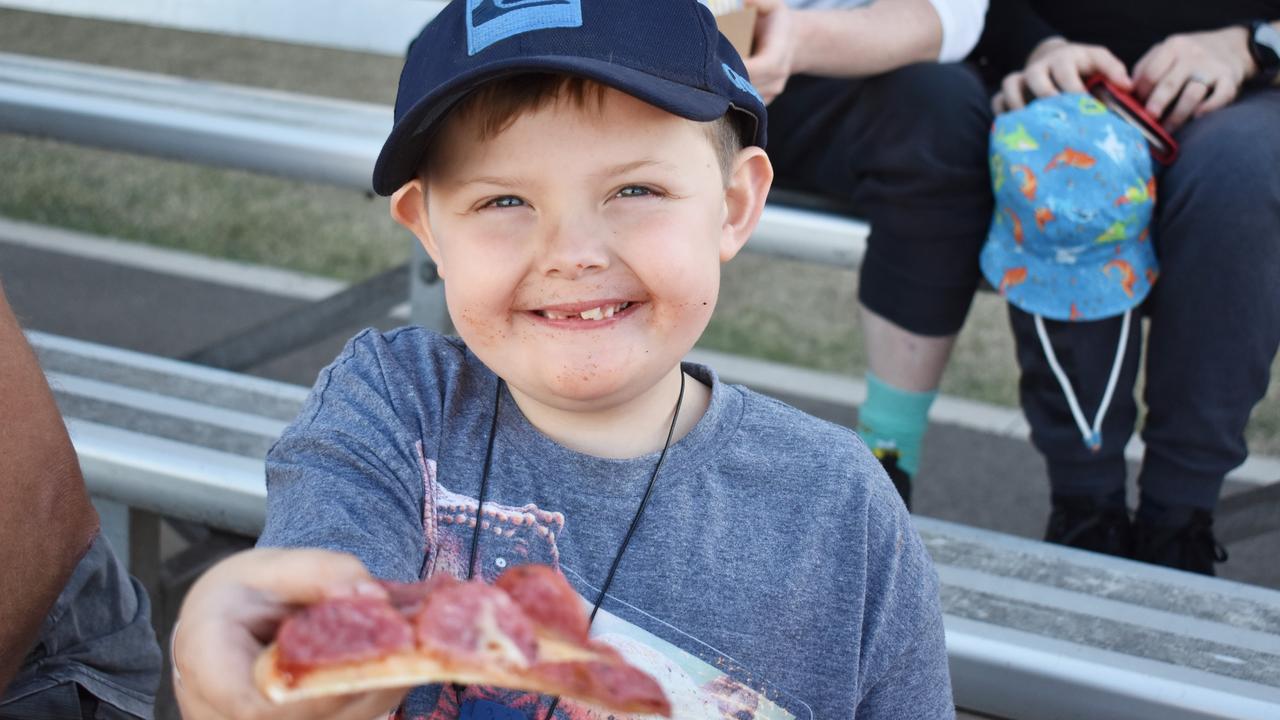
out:
<path id="1" fill-rule="evenodd" d="M 0 288 L 0 694 L 97 533 L 45 374 Z"/>

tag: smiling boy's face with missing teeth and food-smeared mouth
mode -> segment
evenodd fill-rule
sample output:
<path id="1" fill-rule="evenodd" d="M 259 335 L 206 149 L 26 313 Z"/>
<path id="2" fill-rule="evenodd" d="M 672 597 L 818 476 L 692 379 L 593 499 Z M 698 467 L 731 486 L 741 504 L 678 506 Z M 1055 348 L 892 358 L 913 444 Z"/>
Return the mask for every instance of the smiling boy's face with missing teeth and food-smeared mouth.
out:
<path id="1" fill-rule="evenodd" d="M 439 265 L 467 346 L 562 410 L 613 407 L 678 372 L 772 177 L 753 147 L 727 183 L 701 124 L 614 90 L 490 138 L 453 119 L 433 142 L 425 187 L 402 188 L 393 214 Z"/>

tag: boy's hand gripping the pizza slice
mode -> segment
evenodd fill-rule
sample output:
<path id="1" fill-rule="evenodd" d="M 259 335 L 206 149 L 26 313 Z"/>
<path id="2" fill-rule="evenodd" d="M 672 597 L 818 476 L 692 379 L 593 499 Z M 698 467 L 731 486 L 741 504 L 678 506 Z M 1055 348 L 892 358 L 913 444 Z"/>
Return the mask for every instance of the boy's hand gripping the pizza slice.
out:
<path id="1" fill-rule="evenodd" d="M 183 717 L 370 720 L 404 689 L 274 705 L 253 684 L 253 661 L 291 605 L 344 594 L 385 594 L 349 555 L 251 550 L 211 568 L 187 593 L 173 638 L 174 689 Z"/>

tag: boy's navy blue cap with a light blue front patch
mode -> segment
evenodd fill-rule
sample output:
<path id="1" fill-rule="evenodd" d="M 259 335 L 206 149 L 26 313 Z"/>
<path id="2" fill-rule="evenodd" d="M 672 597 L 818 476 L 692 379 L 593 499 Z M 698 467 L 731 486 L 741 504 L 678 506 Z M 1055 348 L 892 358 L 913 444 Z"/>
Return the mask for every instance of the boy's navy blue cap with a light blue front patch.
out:
<path id="1" fill-rule="evenodd" d="M 374 190 L 390 195 L 413 179 L 458 100 L 521 73 L 591 78 L 691 120 L 736 110 L 744 143 L 764 146 L 764 101 L 696 0 L 453 0 L 410 45 Z"/>

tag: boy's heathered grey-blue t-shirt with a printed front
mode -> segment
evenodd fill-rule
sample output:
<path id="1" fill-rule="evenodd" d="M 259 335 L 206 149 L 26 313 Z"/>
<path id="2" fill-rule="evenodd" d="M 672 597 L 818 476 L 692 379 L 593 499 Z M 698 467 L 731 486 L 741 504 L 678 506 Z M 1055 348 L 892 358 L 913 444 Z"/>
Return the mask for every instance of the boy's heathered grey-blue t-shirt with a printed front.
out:
<path id="1" fill-rule="evenodd" d="M 654 675 L 677 717 L 952 717 L 937 577 L 865 446 L 685 369 L 710 407 L 671 447 L 593 635 Z M 348 551 L 396 580 L 465 575 L 495 398 L 479 571 L 552 564 L 594 601 L 657 454 L 553 442 L 461 341 L 421 328 L 366 331 L 320 374 L 268 456 L 260 544 Z M 549 705 L 428 687 L 402 715 L 480 698 L 512 717 Z M 557 716 L 605 717 L 570 701 Z"/>

